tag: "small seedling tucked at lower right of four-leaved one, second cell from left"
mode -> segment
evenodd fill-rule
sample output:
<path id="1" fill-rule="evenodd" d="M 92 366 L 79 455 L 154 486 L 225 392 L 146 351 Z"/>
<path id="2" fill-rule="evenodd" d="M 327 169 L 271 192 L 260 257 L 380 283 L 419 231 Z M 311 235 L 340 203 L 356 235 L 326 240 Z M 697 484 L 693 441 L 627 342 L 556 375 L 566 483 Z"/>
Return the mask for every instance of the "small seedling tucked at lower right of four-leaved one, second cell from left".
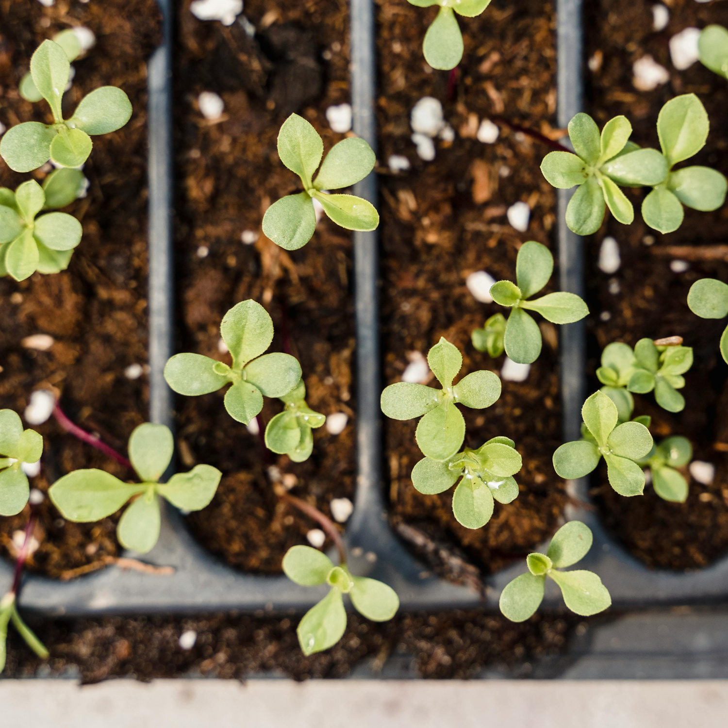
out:
<path id="1" fill-rule="evenodd" d="M 321 427 L 326 416 L 314 412 L 306 404 L 306 385 L 298 387 L 279 397 L 285 409 L 274 416 L 266 427 L 266 448 L 280 455 L 288 455 L 293 462 L 304 462 L 314 447 L 312 428 Z"/>

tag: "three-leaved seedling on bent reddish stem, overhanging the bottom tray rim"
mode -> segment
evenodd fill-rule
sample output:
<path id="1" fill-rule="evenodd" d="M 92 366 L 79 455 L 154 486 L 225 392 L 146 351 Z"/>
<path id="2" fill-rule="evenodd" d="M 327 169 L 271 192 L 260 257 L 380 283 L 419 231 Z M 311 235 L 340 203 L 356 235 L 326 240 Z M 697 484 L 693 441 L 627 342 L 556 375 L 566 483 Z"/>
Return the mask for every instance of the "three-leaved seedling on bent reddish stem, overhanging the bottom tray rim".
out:
<path id="1" fill-rule="evenodd" d="M 343 561 L 334 566 L 327 555 L 310 546 L 293 546 L 283 558 L 285 575 L 296 584 L 315 587 L 328 584 L 328 594 L 309 609 L 298 624 L 298 643 L 304 654 L 321 652 L 335 645 L 347 628 L 344 594 L 357 612 L 373 622 L 395 616 L 400 600 L 392 587 L 376 579 L 355 577 Z"/>

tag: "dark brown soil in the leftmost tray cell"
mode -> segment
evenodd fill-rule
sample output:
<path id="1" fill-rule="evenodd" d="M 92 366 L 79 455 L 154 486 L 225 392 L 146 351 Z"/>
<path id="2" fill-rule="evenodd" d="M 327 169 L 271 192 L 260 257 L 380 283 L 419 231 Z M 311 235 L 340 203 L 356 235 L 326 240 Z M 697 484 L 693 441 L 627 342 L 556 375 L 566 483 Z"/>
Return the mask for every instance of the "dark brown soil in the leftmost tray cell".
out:
<path id="1" fill-rule="evenodd" d="M 22 414 L 33 389 L 55 389 L 72 419 L 124 450 L 147 409 L 146 376 L 128 379 L 124 369 L 147 359 L 146 58 L 160 39 L 155 1 L 58 0 L 53 7 L 0 1 L 0 121 L 8 128 L 50 121 L 47 104 L 23 100 L 17 85 L 41 41 L 76 25 L 90 28 L 96 45 L 74 62 L 76 76 L 63 97 L 64 110 L 70 113 L 84 94 L 112 84 L 127 92 L 133 114 L 122 130 L 94 137 L 84 165 L 90 181 L 87 197 L 66 210 L 83 224 L 82 242 L 68 270 L 36 273 L 20 283 L 0 278 L 0 408 Z M 33 178 L 41 181 L 46 174 L 41 168 Z M 27 178 L 0 162 L 0 186 L 15 189 Z M 52 336 L 50 349 L 23 343 L 35 334 Z M 82 467 L 130 475 L 53 422 L 36 429 L 44 435 L 44 455 L 33 488 L 46 491 L 61 475 Z M 12 534 L 23 529 L 28 510 L 0 518 L 4 555 L 15 552 Z M 48 499 L 37 514 L 39 547 L 29 569 L 63 578 L 102 566 L 116 555 L 114 519 L 68 523 Z"/>

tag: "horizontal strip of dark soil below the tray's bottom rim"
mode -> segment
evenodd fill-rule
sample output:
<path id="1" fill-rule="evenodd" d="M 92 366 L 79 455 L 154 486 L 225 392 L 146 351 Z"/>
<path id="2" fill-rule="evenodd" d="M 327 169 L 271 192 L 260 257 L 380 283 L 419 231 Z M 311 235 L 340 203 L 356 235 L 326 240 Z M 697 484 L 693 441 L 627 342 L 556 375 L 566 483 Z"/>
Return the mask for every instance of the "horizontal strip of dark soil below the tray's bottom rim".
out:
<path id="1" fill-rule="evenodd" d="M 409 656 L 424 678 L 469 678 L 488 668 L 505 677 L 527 677 L 538 670 L 537 660 L 563 652 L 579 624 L 574 617 L 540 615 L 514 624 L 501 615 L 473 610 L 400 614 L 377 625 L 351 614 L 336 646 L 304 657 L 296 620 L 210 614 L 32 622 L 50 649 L 49 660 L 34 657 L 11 630 L 4 676 L 78 677 L 94 683 L 114 677 L 244 679 L 273 672 L 306 680 L 346 677 L 364 659 L 376 675 L 388 657 Z M 197 632 L 189 651 L 179 646 L 187 630 Z"/>

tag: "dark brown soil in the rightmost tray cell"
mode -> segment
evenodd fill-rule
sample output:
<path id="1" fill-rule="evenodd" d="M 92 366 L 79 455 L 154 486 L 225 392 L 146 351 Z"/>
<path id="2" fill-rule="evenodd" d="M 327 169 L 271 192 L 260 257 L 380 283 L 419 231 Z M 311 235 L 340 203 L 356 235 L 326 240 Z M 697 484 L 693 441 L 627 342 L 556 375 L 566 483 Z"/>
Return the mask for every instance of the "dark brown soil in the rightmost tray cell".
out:
<path id="1" fill-rule="evenodd" d="M 648 0 L 593 1 L 587 4 L 587 106 L 601 127 L 625 114 L 632 122 L 633 139 L 659 149 L 657 114 L 670 98 L 682 93 L 698 95 L 711 119 L 711 132 L 703 151 L 686 165 L 708 165 L 728 174 L 728 84 L 705 66 L 695 63 L 677 71 L 670 60 L 669 39 L 684 28 L 711 23 L 728 25 L 724 3 L 697 4 L 673 0 L 670 23 L 652 30 L 652 2 Z M 633 63 L 652 55 L 670 72 L 670 80 L 649 92 L 633 85 Z M 727 369 L 718 350 L 725 322 L 703 320 L 687 307 L 687 293 L 703 277 L 728 280 L 728 259 L 713 244 L 728 240 L 728 208 L 713 213 L 685 210 L 676 232 L 662 235 L 646 226 L 639 214 L 644 191 L 628 191 L 635 205 L 635 221 L 622 226 L 608 217 L 587 245 L 590 371 L 598 366 L 601 349 L 611 341 L 630 345 L 647 336 L 682 336 L 693 347 L 695 363 L 681 390 L 687 405 L 670 414 L 654 403 L 652 395 L 635 395 L 635 414 L 652 416 L 652 434 L 659 442 L 669 435 L 684 435 L 695 459 L 716 466 L 711 485 L 690 480 L 684 504 L 665 502 L 646 486 L 644 496 L 623 498 L 612 491 L 601 472 L 597 488 L 599 506 L 617 537 L 649 566 L 694 569 L 706 566 L 728 548 L 728 384 Z M 620 245 L 622 265 L 607 275 L 598 269 L 598 250 L 606 235 Z M 685 261 L 687 270 L 675 272 L 673 261 Z M 678 270 L 679 267 L 678 267 Z M 606 319 L 606 320 L 605 320 Z M 598 387 L 593 379 L 592 389 Z M 685 473 L 687 475 L 687 471 Z"/>

